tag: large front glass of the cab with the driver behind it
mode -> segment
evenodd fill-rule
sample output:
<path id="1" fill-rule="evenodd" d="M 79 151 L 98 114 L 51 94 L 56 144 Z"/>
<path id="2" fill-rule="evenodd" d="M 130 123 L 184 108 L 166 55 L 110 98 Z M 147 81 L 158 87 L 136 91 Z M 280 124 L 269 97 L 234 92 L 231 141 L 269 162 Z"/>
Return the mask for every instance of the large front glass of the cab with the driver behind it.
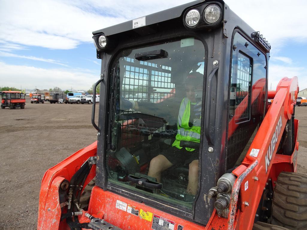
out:
<path id="1" fill-rule="evenodd" d="M 196 38 L 119 53 L 109 95 L 109 183 L 192 208 L 200 163 L 204 58 L 204 44 Z M 194 174 L 189 174 L 191 167 Z"/>

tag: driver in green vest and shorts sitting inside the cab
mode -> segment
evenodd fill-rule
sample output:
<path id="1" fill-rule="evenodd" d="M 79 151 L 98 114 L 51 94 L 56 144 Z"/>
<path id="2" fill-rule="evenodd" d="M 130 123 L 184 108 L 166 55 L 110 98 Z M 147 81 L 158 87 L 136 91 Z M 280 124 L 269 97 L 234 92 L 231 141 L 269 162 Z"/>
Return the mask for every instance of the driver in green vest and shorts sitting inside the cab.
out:
<path id="1" fill-rule="evenodd" d="M 181 141 L 200 143 L 200 118 L 202 99 L 195 97 L 195 90 L 202 90 L 203 75 L 199 72 L 189 73 L 184 81 L 186 97 L 181 102 L 175 98 L 160 103 L 128 101 L 122 98 L 124 109 L 136 111 L 169 111 L 177 114 L 177 135 L 171 148 L 165 149 L 150 161 L 148 176 L 161 182 L 161 173 L 175 166 L 189 166 L 187 193 L 196 195 L 198 185 L 198 149 L 181 147 Z M 160 108 L 163 106 L 164 108 Z M 155 108 L 157 107 L 157 108 Z M 168 109 L 165 109 L 168 107 Z M 177 112 L 176 112 L 177 111 Z M 173 116 L 174 117 L 174 116 Z M 198 146 L 198 145 L 197 145 Z"/>

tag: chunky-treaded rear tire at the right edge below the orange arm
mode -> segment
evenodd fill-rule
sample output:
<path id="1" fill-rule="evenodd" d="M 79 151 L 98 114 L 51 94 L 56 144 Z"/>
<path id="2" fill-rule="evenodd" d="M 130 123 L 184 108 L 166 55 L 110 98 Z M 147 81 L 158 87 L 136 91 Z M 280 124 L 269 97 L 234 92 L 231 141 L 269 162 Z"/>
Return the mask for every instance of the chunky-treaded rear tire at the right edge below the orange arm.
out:
<path id="1" fill-rule="evenodd" d="M 271 223 L 292 230 L 307 229 L 307 176 L 279 174 L 274 191 Z"/>

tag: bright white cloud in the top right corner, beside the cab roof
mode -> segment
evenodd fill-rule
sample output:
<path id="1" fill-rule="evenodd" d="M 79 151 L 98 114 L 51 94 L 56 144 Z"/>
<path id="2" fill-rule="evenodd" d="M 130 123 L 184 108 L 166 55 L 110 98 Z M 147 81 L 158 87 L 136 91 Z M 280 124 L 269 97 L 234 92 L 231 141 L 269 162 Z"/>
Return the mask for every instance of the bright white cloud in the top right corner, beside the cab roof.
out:
<path id="1" fill-rule="evenodd" d="M 228 0 L 227 5 L 255 31 L 260 31 L 270 42 L 272 50 L 280 49 L 285 42 L 306 42 L 307 25 L 305 9 L 307 2 L 259 0 Z M 294 45 L 294 43 L 293 43 Z"/>

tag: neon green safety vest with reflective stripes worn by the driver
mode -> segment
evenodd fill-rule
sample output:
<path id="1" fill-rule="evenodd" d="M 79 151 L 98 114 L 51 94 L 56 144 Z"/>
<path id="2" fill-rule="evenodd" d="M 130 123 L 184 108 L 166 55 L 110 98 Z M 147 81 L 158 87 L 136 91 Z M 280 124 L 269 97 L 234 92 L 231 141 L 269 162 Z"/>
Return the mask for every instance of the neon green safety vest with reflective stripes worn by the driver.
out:
<path id="1" fill-rule="evenodd" d="M 200 143 L 200 126 L 189 127 L 191 101 L 188 98 L 183 98 L 181 101 L 178 114 L 178 130 L 176 140 L 172 144 L 173 147 L 181 149 L 180 141 L 193 141 Z M 187 151 L 194 151 L 194 148 L 185 148 Z"/>

